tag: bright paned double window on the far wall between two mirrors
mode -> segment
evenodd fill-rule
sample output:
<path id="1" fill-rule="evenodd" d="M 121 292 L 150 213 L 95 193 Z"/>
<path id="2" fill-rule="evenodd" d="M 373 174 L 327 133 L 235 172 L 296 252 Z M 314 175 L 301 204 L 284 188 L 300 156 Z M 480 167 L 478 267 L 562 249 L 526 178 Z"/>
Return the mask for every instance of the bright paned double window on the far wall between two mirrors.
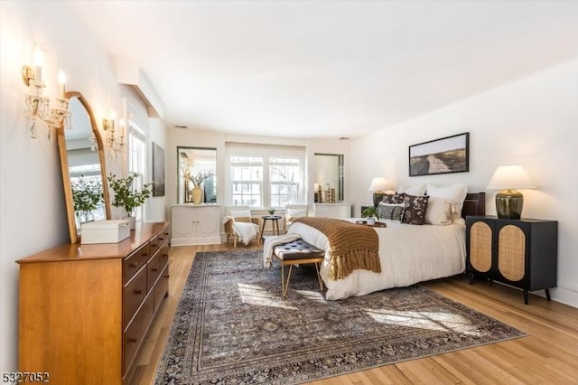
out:
<path id="1" fill-rule="evenodd" d="M 284 208 L 305 199 L 304 148 L 228 144 L 230 204 Z"/>

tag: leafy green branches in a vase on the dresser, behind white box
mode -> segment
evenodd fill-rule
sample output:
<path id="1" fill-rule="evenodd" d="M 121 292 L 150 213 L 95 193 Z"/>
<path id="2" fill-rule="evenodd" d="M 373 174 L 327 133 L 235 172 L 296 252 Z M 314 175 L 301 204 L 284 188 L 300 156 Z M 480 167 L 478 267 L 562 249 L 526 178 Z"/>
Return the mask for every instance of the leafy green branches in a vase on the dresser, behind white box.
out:
<path id="1" fill-rule="evenodd" d="M 151 197 L 153 193 L 153 183 L 144 183 L 143 188 L 139 191 L 135 188 L 136 173 L 130 173 L 125 178 L 117 178 L 115 174 L 107 176 L 108 185 L 115 192 L 112 205 L 125 210 L 126 218 L 130 219 L 131 230 L 135 229 L 134 211 L 137 207 Z"/>

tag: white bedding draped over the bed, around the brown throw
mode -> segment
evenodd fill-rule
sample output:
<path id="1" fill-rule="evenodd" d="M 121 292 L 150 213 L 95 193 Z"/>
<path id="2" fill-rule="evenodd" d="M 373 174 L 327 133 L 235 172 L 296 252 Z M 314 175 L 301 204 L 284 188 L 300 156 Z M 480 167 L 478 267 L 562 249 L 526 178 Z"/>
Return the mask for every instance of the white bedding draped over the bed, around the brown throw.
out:
<path id="1" fill-rule="evenodd" d="M 357 269 L 348 277 L 330 280 L 329 251 L 326 251 L 321 274 L 327 286 L 327 299 L 363 296 L 390 287 L 454 276 L 465 270 L 465 225 L 462 222 L 445 226 L 387 222 L 387 228 L 374 229 L 378 232 L 381 273 Z M 293 223 L 287 233 L 297 233 L 306 242 L 329 250 L 327 237 L 303 223 Z"/>

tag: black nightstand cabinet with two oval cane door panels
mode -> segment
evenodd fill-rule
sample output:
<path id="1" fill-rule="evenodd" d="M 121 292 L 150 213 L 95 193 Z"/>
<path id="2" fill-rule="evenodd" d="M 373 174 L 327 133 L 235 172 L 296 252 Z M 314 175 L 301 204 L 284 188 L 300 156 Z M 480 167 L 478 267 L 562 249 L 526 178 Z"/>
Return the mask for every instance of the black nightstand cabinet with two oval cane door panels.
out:
<path id="1" fill-rule="evenodd" d="M 466 217 L 466 273 L 470 284 L 484 277 L 528 291 L 556 286 L 558 222 Z"/>

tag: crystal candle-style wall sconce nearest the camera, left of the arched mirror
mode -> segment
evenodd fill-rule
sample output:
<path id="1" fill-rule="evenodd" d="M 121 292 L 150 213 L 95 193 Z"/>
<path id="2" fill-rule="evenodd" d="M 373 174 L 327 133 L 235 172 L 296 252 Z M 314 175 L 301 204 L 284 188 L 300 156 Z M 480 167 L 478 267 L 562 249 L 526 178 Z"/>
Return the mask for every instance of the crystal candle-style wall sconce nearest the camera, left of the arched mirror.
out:
<path id="1" fill-rule="evenodd" d="M 71 128 L 71 114 L 69 111 L 69 100 L 64 98 L 64 84 L 66 75 L 60 71 L 58 81 L 60 84 L 60 96 L 56 99 L 57 107 L 51 109 L 50 99 L 42 93 L 46 84 L 42 82 L 42 65 L 44 56 L 42 51 L 37 48 L 34 51 L 33 67 L 24 65 L 22 76 L 24 84 L 29 88 L 28 93 L 24 94 L 24 114 L 32 118 L 33 124 L 29 129 L 31 137 L 36 138 L 36 118 L 40 117 L 48 124 L 48 140 L 51 141 L 52 127 Z"/>

